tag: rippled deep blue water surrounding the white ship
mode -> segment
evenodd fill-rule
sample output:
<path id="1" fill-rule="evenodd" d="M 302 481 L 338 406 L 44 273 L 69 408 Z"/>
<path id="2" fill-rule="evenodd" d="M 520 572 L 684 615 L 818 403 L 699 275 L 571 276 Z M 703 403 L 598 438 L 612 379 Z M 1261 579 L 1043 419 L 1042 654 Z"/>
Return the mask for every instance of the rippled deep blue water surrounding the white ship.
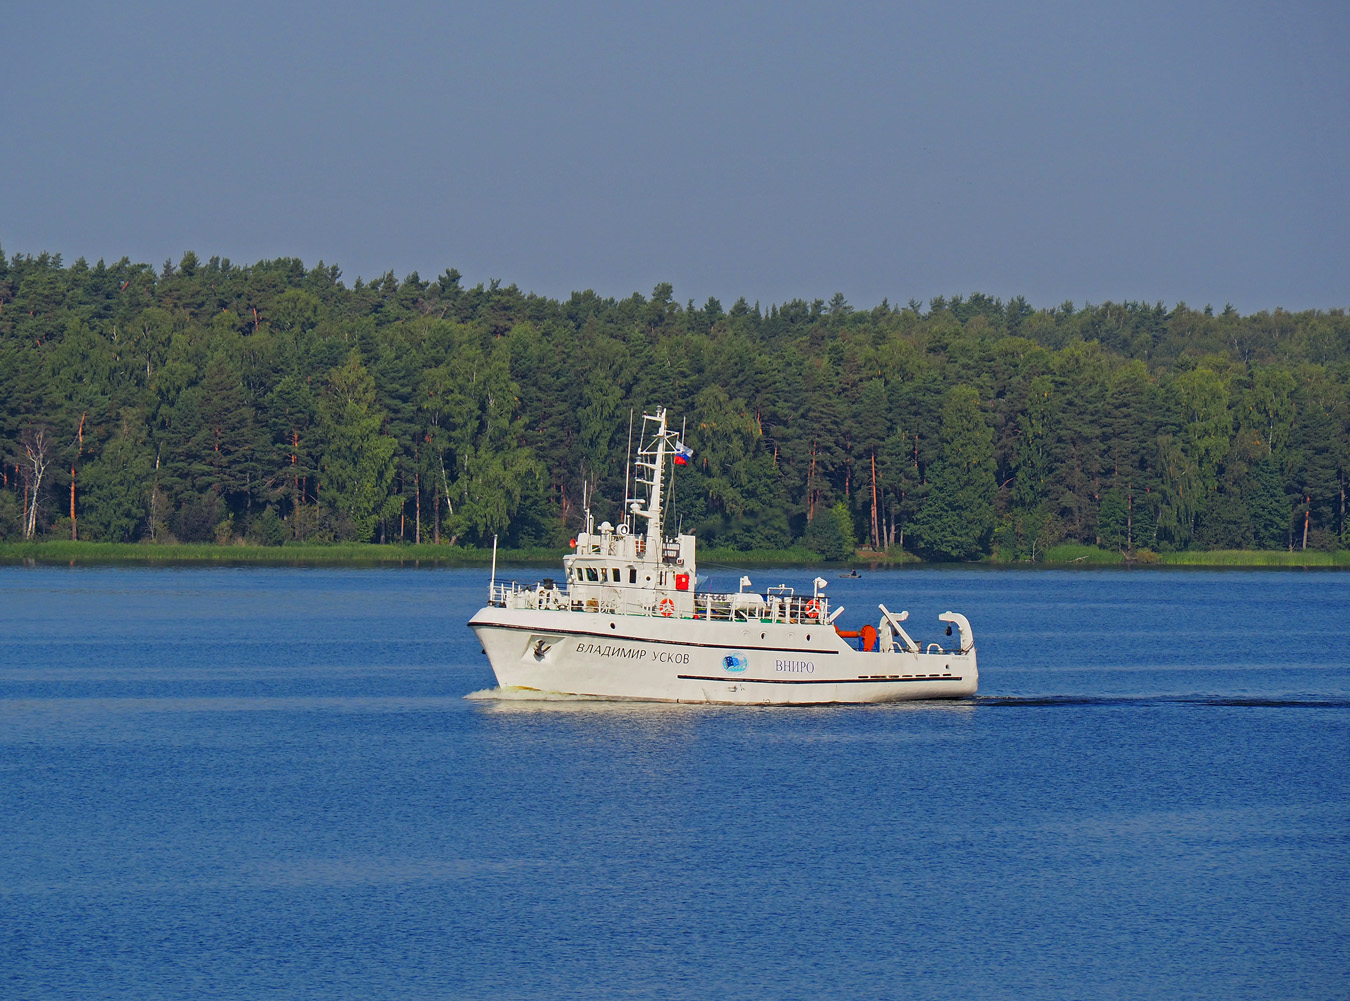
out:
<path id="1" fill-rule="evenodd" d="M 0 567 L 0 997 L 1350 994 L 1350 574 L 830 580 L 980 697 L 807 709 L 466 700 L 485 589 Z"/>

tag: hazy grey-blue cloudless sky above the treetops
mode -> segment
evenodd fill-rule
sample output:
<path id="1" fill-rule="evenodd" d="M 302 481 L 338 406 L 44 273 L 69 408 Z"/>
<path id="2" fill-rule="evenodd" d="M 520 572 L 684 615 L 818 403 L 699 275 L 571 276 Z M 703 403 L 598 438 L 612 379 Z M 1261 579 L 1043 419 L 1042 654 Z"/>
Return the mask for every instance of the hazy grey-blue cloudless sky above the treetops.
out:
<path id="1" fill-rule="evenodd" d="M 1350 5 L 23 4 L 0 246 L 1350 307 Z"/>

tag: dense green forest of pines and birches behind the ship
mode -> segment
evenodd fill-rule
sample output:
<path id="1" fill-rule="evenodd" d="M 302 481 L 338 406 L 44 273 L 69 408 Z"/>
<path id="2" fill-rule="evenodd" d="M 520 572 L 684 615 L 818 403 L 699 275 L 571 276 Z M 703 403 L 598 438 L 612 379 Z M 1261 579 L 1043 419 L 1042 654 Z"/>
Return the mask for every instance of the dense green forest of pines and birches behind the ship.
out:
<path id="1" fill-rule="evenodd" d="M 1034 561 L 1350 547 L 1350 316 L 566 301 L 338 266 L 0 250 L 0 539 L 563 548 L 629 416 L 729 550 Z"/>

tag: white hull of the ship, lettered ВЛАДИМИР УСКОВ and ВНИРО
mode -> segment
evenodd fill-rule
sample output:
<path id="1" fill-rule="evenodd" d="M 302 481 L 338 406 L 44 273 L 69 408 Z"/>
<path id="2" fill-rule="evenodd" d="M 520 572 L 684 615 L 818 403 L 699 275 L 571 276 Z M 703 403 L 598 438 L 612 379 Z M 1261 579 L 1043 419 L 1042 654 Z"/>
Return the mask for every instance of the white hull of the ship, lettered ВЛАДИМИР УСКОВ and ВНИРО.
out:
<path id="1" fill-rule="evenodd" d="M 489 605 L 468 623 L 502 688 L 664 702 L 818 705 L 963 698 L 975 650 L 860 651 L 824 624 Z"/>

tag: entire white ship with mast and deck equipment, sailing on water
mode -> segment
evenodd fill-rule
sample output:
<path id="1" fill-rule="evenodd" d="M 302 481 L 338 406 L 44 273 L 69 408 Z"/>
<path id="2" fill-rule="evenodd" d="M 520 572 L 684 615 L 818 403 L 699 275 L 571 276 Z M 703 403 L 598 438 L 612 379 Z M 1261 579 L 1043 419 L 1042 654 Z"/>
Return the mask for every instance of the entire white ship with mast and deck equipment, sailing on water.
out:
<path id="1" fill-rule="evenodd" d="M 663 534 L 668 463 L 690 450 L 667 428 L 666 409 L 643 416 L 625 519 L 586 531 L 563 558 L 562 584 L 497 581 L 468 625 L 502 689 L 666 702 L 810 705 L 973 696 L 975 638 L 964 615 L 940 620 L 957 635 L 921 647 L 909 612 L 878 605 L 857 630 L 834 623 L 815 578 L 810 594 L 701 592 L 693 535 Z M 632 496 L 636 494 L 636 496 Z"/>

